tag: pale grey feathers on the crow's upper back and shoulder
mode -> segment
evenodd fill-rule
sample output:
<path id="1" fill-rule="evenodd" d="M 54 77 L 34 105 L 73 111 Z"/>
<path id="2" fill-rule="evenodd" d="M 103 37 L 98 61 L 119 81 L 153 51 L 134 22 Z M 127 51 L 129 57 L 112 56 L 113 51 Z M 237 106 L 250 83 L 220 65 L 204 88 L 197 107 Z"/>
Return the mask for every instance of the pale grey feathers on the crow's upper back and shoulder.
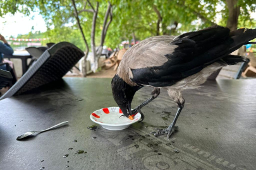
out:
<path id="1" fill-rule="evenodd" d="M 129 77 L 133 75 L 130 69 L 161 66 L 168 61 L 164 55 L 174 52 L 176 45 L 170 45 L 173 36 L 150 37 L 129 48 L 118 67 L 118 75 L 128 84 L 135 86 Z M 130 74 L 129 74 L 130 73 Z"/>

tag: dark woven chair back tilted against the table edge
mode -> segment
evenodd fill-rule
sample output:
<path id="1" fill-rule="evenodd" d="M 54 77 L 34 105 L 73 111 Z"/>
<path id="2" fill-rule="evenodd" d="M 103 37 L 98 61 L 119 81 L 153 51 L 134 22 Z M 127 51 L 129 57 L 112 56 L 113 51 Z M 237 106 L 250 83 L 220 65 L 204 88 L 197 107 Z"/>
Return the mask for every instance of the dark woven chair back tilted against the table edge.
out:
<path id="1" fill-rule="evenodd" d="M 9 98 L 61 79 L 85 54 L 68 42 L 56 43 L 0 99 Z"/>

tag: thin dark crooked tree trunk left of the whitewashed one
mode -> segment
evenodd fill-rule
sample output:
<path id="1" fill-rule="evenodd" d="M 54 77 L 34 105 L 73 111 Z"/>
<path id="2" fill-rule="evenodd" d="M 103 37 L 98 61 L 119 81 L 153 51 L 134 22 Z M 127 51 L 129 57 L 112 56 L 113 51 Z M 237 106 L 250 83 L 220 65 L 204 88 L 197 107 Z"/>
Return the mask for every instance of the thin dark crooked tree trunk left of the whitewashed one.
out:
<path id="1" fill-rule="evenodd" d="M 76 18 L 76 21 L 77 21 L 77 24 L 78 24 L 78 28 L 79 28 L 79 30 L 80 30 L 80 32 L 82 34 L 83 42 L 85 42 L 85 47 L 86 47 L 84 62 L 83 62 L 83 65 L 82 65 L 83 77 L 86 77 L 86 74 L 87 74 L 87 71 L 86 71 L 86 62 L 87 62 L 87 60 L 86 59 L 87 59 L 87 56 L 88 56 L 89 47 L 88 47 L 87 40 L 85 38 L 85 34 L 83 33 L 82 26 L 80 25 L 80 20 L 78 18 L 78 12 L 77 12 L 77 9 L 76 9 L 75 0 L 72 0 L 72 4 L 73 4 L 73 7 L 75 9 L 75 18 Z"/>

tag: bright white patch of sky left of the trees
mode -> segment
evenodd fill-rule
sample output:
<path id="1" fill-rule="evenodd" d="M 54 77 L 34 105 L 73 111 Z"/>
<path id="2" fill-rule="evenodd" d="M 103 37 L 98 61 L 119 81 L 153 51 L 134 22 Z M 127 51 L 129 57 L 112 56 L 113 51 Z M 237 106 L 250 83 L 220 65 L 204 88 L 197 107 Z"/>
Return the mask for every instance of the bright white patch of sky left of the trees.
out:
<path id="1" fill-rule="evenodd" d="M 34 20 L 32 17 L 34 16 Z M 3 18 L 0 18 L 0 34 L 5 38 L 9 38 L 11 35 L 17 37 L 18 34 L 27 34 L 34 26 L 34 31 L 46 31 L 46 22 L 39 14 L 39 12 L 31 13 L 30 16 L 25 16 L 21 13 L 6 14 Z"/>

